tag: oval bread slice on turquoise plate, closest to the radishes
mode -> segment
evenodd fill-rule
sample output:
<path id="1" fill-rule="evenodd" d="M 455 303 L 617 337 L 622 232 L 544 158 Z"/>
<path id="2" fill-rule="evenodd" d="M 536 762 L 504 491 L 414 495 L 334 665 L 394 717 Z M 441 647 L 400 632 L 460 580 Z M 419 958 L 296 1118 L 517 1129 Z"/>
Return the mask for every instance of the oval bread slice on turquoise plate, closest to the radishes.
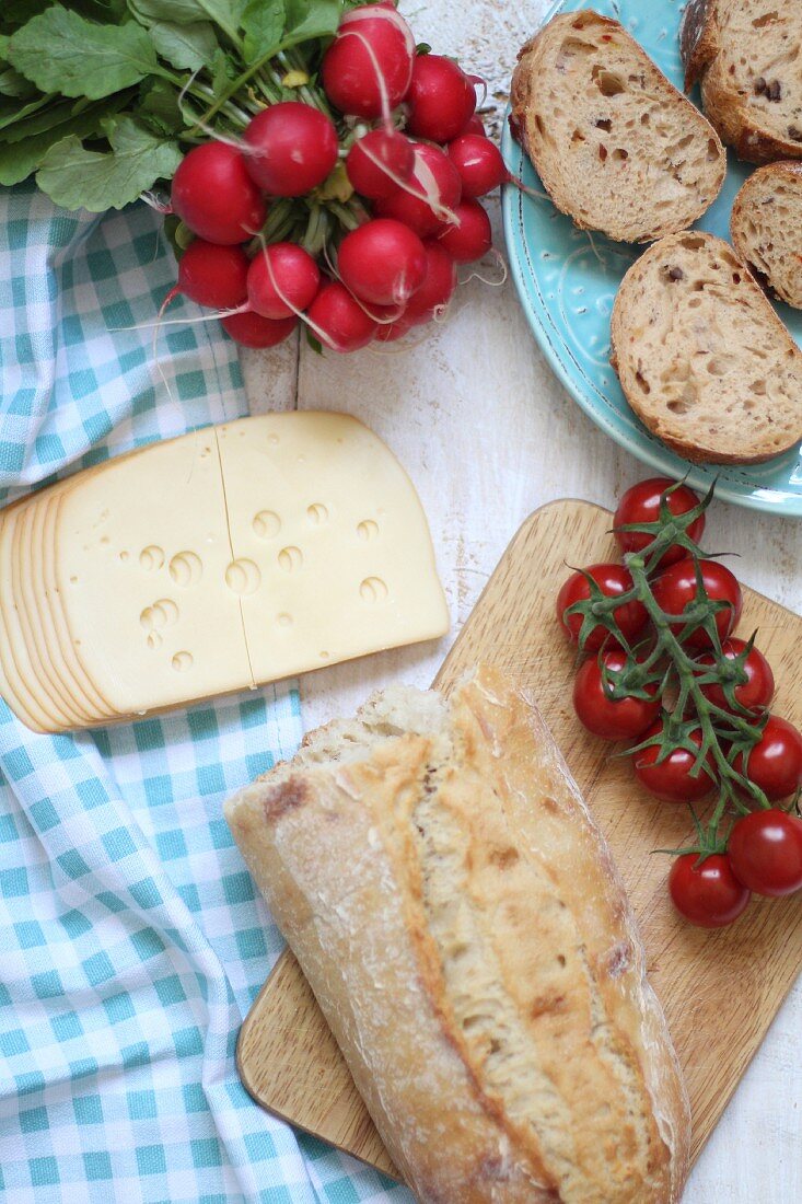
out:
<path id="1" fill-rule="evenodd" d="M 617 20 L 554 17 L 518 55 L 511 125 L 543 185 L 583 229 L 649 242 L 718 195 L 715 130 Z"/>

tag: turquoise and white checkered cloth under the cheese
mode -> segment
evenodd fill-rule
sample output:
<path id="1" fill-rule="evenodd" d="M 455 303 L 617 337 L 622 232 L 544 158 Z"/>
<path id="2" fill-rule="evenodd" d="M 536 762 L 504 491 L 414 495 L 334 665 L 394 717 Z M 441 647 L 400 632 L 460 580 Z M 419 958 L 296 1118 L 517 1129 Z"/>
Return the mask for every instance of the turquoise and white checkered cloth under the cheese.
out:
<path id="1" fill-rule="evenodd" d="M 217 323 L 164 327 L 164 377 L 152 329 L 128 329 L 175 279 L 159 224 L 0 195 L 1 501 L 247 412 Z M 281 937 L 222 804 L 300 734 L 287 684 L 78 736 L 34 736 L 0 702 L 0 1199 L 409 1199 L 236 1075 Z"/>

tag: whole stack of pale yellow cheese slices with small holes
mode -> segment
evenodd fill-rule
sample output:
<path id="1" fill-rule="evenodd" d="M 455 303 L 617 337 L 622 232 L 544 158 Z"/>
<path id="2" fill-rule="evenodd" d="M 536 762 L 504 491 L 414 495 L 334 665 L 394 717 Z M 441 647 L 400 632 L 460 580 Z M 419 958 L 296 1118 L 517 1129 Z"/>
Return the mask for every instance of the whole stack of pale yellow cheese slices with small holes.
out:
<path id="1" fill-rule="evenodd" d="M 34 731 L 255 687 L 447 630 L 414 488 L 344 414 L 206 427 L 0 514 L 0 692 Z"/>

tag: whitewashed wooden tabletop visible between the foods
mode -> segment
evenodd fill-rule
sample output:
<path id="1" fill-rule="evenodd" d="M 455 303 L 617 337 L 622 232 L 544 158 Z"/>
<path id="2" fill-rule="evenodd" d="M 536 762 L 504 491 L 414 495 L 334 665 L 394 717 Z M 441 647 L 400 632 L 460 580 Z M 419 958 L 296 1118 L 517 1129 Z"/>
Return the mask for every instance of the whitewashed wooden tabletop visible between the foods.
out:
<path id="1" fill-rule="evenodd" d="M 496 136 L 515 53 L 547 7 L 548 0 L 525 0 L 520 7 L 502 0 L 401 4 L 419 40 L 488 81 L 488 124 Z M 491 209 L 495 242 L 503 247 L 497 201 Z M 427 685 L 501 553 L 538 506 L 558 497 L 613 506 L 623 489 L 650 474 L 597 430 L 554 378 L 512 282 L 493 288 L 472 281 L 460 288 L 447 321 L 423 327 L 419 341 L 350 356 L 318 356 L 293 341 L 246 355 L 243 366 L 254 413 L 343 411 L 396 453 L 429 515 L 453 616 L 450 635 L 436 647 L 383 653 L 303 678 L 307 727 L 349 714 L 390 680 Z M 717 503 L 708 531 L 717 548 L 741 554 L 738 572 L 749 585 L 802 612 L 801 523 Z M 802 1200 L 802 980 L 683 1199 Z"/>

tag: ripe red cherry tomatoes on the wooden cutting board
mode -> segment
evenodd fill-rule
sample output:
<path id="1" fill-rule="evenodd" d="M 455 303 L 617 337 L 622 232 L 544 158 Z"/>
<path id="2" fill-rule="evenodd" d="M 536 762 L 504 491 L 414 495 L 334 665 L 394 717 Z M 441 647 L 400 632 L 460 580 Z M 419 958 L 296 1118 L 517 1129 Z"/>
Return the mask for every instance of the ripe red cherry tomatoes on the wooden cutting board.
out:
<path id="1" fill-rule="evenodd" d="M 751 641 L 733 635 L 743 597 L 730 569 L 696 555 L 683 543 L 670 545 L 656 565 L 649 565 L 648 548 L 661 520 L 661 498 L 672 515 L 698 512 L 685 527 L 690 541 L 698 543 L 704 513 L 692 490 L 662 478 L 641 482 L 624 494 L 615 512 L 615 536 L 625 562 L 595 563 L 572 573 L 558 596 L 558 619 L 573 642 L 579 641 L 584 624 L 582 651 L 591 654 L 579 666 L 574 681 L 573 703 L 579 720 L 603 739 L 635 742 L 635 775 L 655 797 L 667 803 L 701 804 L 721 791 L 714 757 L 708 751 L 700 766 L 700 756 L 694 752 L 702 748 L 701 726 L 685 724 L 678 728 L 668 709 L 670 698 L 661 691 L 671 677 L 657 672 L 645 683 L 638 681 L 638 662 L 645 660 L 654 644 L 655 614 L 662 612 L 672 620 L 677 616 L 670 630 L 682 645 L 685 673 L 696 679 L 697 692 L 712 706 L 712 714 L 731 714 L 735 727 L 736 720 L 744 718 L 756 725 L 754 742 L 731 756 L 735 773 L 747 779 L 742 785 L 751 785 L 739 793 L 741 805 L 735 819 L 729 816 L 729 831 L 712 848 L 678 856 L 670 874 L 670 892 L 678 911 L 702 927 L 721 927 L 743 913 L 751 892 L 779 897 L 802 890 L 802 819 L 794 813 L 802 787 L 802 734 L 788 720 L 768 712 L 774 694 L 771 666 Z M 655 526 L 649 532 L 625 530 L 644 524 Z M 627 567 L 635 554 L 648 565 L 642 596 L 637 596 Z M 605 598 L 623 598 L 612 612 L 613 630 L 609 625 L 591 626 L 586 616 L 592 612 L 588 608 L 570 609 L 591 598 L 589 578 Z M 639 579 L 647 580 L 643 574 Z M 710 608 L 709 602 L 719 604 Z M 713 613 L 718 639 L 710 622 L 694 626 L 689 621 L 700 603 L 707 606 L 708 616 Z M 617 677 L 626 683 L 626 674 L 632 672 L 632 680 L 638 681 L 632 695 L 620 687 L 613 690 Z M 683 737 L 674 742 L 672 733 L 677 730 Z M 785 807 L 772 805 L 783 801 L 789 801 Z"/>

